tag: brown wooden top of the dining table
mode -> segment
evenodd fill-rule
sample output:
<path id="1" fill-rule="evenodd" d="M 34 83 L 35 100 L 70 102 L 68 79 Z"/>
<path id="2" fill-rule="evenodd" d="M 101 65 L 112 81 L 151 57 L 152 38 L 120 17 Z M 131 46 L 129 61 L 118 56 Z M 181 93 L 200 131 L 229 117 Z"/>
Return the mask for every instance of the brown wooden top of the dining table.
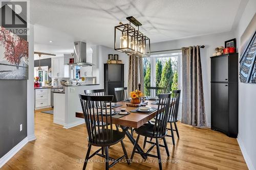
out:
<path id="1" fill-rule="evenodd" d="M 154 105 L 152 103 L 156 102 L 154 100 L 146 100 L 147 107 L 157 108 L 158 105 Z M 112 124 L 125 126 L 125 127 L 132 127 L 132 128 L 139 128 L 143 124 L 147 123 L 149 120 L 154 118 L 157 114 L 157 110 L 148 114 L 148 113 L 137 113 L 137 112 L 131 112 L 132 110 L 137 109 L 137 107 L 132 106 L 126 106 L 126 104 L 129 102 L 117 102 L 116 104 L 122 105 L 120 107 L 114 108 L 115 111 L 120 111 L 121 108 L 125 108 L 127 112 L 130 112 L 130 114 L 127 114 L 120 118 L 114 118 L 112 117 Z M 76 117 L 84 118 L 83 112 L 78 111 L 76 112 Z M 105 119 L 103 119 L 103 122 L 105 122 Z"/>

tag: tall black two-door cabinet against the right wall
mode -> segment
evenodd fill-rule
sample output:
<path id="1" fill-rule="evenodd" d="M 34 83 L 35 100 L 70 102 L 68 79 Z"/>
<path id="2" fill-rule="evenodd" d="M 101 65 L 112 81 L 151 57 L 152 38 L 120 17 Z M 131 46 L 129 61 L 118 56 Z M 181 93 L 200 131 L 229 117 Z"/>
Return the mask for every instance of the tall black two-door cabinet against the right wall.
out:
<path id="1" fill-rule="evenodd" d="M 211 129 L 238 135 L 238 53 L 210 57 Z"/>

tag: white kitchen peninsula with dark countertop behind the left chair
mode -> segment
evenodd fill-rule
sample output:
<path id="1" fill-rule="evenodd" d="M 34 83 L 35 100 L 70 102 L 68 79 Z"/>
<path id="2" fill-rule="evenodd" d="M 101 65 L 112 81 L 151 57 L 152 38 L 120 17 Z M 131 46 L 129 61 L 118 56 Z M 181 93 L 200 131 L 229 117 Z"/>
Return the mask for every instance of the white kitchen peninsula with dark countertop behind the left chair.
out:
<path id="1" fill-rule="evenodd" d="M 83 124 L 84 119 L 76 117 L 76 112 L 82 109 L 78 94 L 100 88 L 99 84 L 68 85 L 63 92 L 54 92 L 53 123 L 65 129 Z"/>

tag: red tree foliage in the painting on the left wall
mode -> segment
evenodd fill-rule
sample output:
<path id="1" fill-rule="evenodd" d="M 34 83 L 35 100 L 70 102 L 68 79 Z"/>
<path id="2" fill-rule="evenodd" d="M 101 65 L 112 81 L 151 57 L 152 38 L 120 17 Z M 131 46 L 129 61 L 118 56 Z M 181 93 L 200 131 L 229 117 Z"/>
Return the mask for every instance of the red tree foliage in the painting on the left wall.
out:
<path id="1" fill-rule="evenodd" d="M 29 47 L 28 42 L 13 33 L 10 33 L 9 30 L 6 30 L 3 27 L 0 27 L 0 45 L 5 47 L 5 59 L 17 66 L 20 64 L 22 58 L 28 62 L 29 57 Z"/>

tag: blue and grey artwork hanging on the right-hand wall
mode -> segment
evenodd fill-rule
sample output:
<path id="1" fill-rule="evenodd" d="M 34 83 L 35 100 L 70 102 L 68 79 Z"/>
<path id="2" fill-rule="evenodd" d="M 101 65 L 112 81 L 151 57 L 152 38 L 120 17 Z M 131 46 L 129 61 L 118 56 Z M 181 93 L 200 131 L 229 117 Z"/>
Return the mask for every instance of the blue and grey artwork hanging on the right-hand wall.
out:
<path id="1" fill-rule="evenodd" d="M 256 14 L 241 36 L 240 55 L 240 81 L 256 83 Z"/>

